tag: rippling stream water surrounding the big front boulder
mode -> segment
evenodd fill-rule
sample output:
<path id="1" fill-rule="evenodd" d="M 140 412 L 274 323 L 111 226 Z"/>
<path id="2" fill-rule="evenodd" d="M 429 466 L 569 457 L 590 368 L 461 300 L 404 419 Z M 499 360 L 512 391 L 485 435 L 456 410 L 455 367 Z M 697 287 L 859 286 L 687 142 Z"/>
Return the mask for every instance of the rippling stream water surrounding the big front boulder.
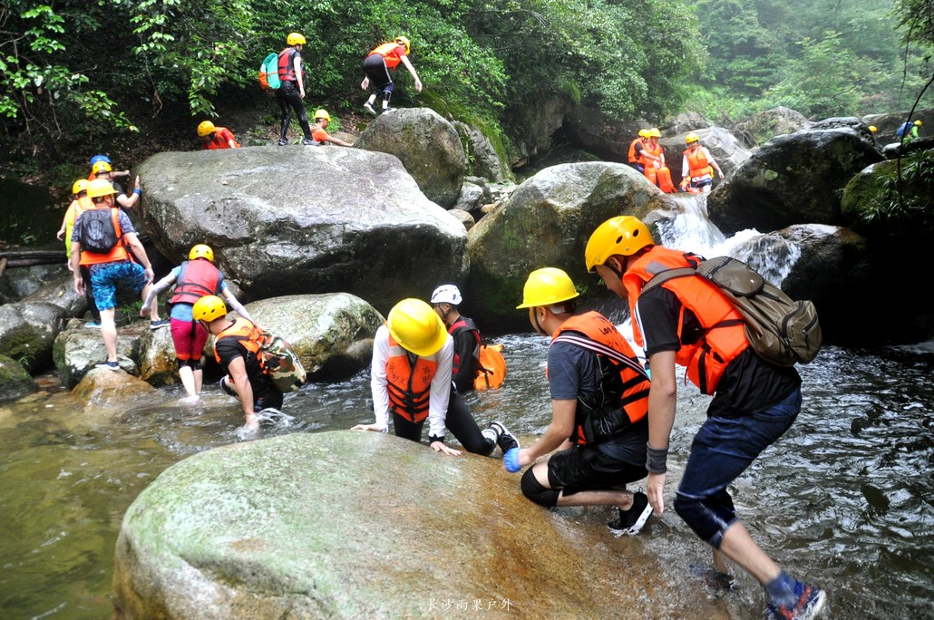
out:
<path id="1" fill-rule="evenodd" d="M 546 341 L 531 330 L 495 340 L 504 344 L 505 385 L 466 400 L 481 423 L 502 419 L 530 442 L 550 420 Z M 934 617 L 932 365 L 930 345 L 826 347 L 800 367 L 797 423 L 730 489 L 757 542 L 787 571 L 825 588 L 835 617 Z M 164 388 L 84 411 L 54 376 L 39 383 L 35 395 L 0 406 L 0 617 L 108 618 L 127 507 L 178 460 L 243 441 L 239 407 L 209 386 L 196 406 L 179 405 L 180 389 Z M 707 402 L 692 386 L 680 388 L 668 506 Z M 304 386 L 283 408 L 293 419 L 264 426 L 260 438 L 371 421 L 368 374 Z M 529 510 L 541 508 L 530 502 Z M 581 514 L 563 510 L 557 518 Z M 598 528 L 609 516 L 588 511 Z M 709 559 L 708 548 L 672 510 L 650 519 L 638 543 L 661 558 L 675 594 L 703 587 L 691 566 Z M 729 617 L 762 616 L 760 588 L 745 574 L 717 596 Z"/>

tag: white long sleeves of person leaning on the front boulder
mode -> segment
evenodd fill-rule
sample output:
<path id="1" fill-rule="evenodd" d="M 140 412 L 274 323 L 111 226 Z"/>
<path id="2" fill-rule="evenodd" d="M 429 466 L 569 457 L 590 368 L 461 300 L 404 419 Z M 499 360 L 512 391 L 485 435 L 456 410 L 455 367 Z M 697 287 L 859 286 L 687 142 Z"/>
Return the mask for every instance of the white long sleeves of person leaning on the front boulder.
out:
<path id="1" fill-rule="evenodd" d="M 454 340 L 450 334 L 434 355 L 428 359 L 438 365 L 432 378 L 432 391 L 428 401 L 428 434 L 430 437 L 445 436 L 447 402 L 451 397 L 451 366 L 454 364 Z M 370 365 L 370 389 L 373 391 L 373 409 L 376 425 L 389 432 L 389 389 L 386 367 L 389 364 L 389 328 L 379 326 L 373 343 L 373 362 Z"/>

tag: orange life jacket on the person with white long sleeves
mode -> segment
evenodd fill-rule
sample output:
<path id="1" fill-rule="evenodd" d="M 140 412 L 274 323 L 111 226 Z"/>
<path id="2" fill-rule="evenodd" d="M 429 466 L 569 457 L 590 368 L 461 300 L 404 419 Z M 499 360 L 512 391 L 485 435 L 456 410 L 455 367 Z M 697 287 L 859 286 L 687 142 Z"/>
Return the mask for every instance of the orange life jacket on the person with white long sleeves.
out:
<path id="1" fill-rule="evenodd" d="M 417 357 L 413 367 L 409 355 L 389 334 L 389 361 L 386 364 L 389 411 L 417 424 L 428 417 L 432 379 L 438 372 L 438 362 Z"/>

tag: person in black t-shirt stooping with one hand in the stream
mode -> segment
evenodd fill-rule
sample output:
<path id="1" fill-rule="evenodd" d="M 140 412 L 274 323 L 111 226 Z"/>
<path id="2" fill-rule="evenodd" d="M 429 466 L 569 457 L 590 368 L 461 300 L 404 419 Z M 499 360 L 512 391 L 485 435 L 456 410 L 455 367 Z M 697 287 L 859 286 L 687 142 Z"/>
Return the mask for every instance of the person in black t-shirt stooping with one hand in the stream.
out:
<path id="1" fill-rule="evenodd" d="M 215 337 L 214 357 L 227 373 L 220 379 L 220 388 L 240 402 L 247 418 L 246 430 L 259 429 L 256 414 L 278 409 L 284 399 L 257 358 L 262 330 L 246 317 L 228 318 L 227 305 L 217 295 L 205 295 L 195 302 L 191 318 Z"/>

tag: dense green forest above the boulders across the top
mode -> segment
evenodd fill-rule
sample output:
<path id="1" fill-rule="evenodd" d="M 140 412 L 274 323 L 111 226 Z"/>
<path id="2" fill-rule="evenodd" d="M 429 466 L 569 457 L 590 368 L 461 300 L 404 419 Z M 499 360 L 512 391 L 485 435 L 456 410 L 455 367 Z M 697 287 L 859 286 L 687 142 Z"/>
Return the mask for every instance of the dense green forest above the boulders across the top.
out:
<path id="1" fill-rule="evenodd" d="M 257 71 L 304 34 L 306 106 L 359 113 L 361 60 L 406 35 L 431 106 L 508 140 L 562 93 L 620 119 L 729 123 L 931 106 L 934 0 L 2 0 L 0 162 L 70 179 L 92 151 L 132 163 L 231 106 L 275 108 Z M 927 89 L 927 90 L 926 90 Z"/>

